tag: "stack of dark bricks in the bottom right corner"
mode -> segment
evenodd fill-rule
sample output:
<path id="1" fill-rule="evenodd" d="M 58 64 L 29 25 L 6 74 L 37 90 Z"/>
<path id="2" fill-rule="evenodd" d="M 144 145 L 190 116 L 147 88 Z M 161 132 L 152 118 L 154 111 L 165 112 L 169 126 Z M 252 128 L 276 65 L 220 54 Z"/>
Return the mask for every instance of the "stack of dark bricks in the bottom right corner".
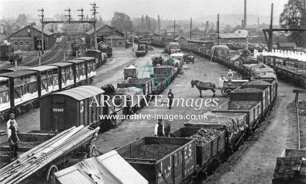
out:
<path id="1" fill-rule="evenodd" d="M 277 180 L 306 182 L 306 159 L 303 157 L 278 157 L 273 178 Z"/>

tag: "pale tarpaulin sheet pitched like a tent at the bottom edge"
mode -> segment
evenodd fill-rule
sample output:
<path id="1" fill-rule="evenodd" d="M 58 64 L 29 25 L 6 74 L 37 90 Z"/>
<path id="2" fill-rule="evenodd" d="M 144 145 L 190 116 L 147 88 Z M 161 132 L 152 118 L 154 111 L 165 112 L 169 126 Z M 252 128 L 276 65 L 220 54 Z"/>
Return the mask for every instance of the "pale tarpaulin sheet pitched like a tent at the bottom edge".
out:
<path id="1" fill-rule="evenodd" d="M 70 179 L 74 178 L 77 179 L 77 184 L 148 184 L 148 181 L 115 150 L 86 159 L 71 167 L 74 168 L 68 167 L 54 174 L 60 183 L 69 184 Z M 76 172 L 75 168 L 79 172 Z M 71 170 L 73 172 L 69 172 Z"/>

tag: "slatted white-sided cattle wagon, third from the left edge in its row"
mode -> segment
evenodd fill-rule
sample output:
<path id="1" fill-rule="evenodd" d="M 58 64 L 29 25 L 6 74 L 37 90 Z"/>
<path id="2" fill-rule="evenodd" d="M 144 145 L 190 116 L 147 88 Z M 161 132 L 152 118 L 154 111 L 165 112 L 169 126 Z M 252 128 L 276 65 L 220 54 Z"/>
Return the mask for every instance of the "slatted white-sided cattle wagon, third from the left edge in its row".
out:
<path id="1" fill-rule="evenodd" d="M 59 90 L 58 67 L 56 66 L 37 66 L 24 70 L 35 71 L 37 74 L 38 97 L 57 92 Z"/>

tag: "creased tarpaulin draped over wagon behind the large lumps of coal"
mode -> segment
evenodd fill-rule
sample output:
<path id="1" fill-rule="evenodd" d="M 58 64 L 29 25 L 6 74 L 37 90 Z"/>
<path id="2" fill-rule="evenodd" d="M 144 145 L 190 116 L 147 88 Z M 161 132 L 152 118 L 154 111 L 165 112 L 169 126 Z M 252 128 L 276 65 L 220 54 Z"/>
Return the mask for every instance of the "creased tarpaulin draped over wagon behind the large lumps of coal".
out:
<path id="1" fill-rule="evenodd" d="M 206 112 L 205 115 L 207 115 L 207 119 L 189 120 L 187 123 L 184 123 L 184 126 L 225 129 L 230 141 L 248 126 L 247 114 L 245 113 Z"/>

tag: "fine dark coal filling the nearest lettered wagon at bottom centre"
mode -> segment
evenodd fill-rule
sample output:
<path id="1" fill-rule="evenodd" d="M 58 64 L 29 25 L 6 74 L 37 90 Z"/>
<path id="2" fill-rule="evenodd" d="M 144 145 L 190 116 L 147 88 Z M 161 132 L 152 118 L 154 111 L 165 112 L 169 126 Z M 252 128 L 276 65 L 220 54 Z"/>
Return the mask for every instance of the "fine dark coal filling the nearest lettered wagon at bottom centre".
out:
<path id="1" fill-rule="evenodd" d="M 160 160 L 166 155 L 170 154 L 174 150 L 180 148 L 178 145 L 170 144 L 152 144 L 152 145 L 142 145 L 134 158 L 137 159 L 150 159 L 150 160 Z"/>

